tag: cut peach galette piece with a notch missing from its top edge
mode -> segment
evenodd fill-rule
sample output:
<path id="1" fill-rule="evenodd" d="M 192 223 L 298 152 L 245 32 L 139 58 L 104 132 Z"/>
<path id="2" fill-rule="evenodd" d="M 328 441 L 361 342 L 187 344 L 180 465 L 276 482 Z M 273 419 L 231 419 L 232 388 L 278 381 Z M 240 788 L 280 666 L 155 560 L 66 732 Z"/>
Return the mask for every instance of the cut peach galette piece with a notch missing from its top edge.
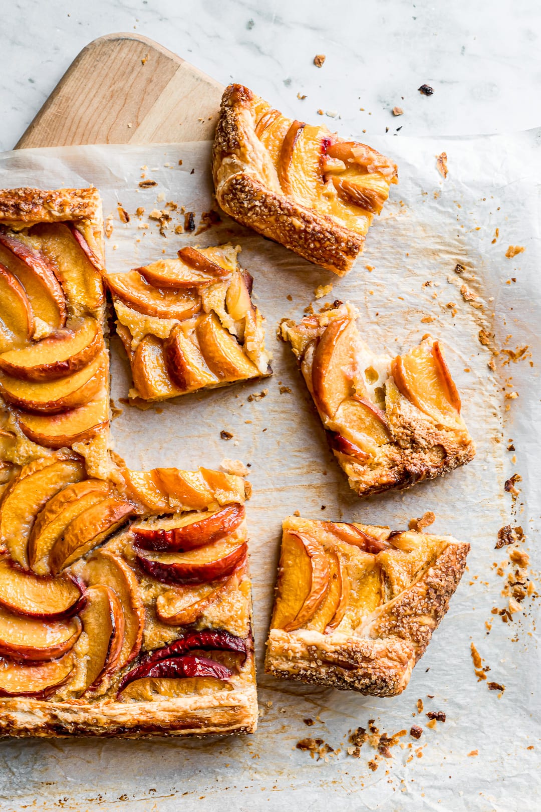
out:
<path id="1" fill-rule="evenodd" d="M 461 400 L 439 341 L 376 356 L 350 304 L 281 323 L 328 443 L 359 496 L 438 477 L 473 459 Z"/>

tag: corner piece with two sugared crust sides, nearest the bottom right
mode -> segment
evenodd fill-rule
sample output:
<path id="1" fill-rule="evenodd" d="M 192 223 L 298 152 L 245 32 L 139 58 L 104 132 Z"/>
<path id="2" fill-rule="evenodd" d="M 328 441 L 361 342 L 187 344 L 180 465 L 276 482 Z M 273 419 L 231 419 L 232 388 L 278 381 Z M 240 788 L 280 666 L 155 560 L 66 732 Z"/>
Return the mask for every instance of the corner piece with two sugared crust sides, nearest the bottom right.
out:
<path id="1" fill-rule="evenodd" d="M 449 608 L 470 545 L 289 516 L 265 670 L 379 697 L 406 688 Z"/>

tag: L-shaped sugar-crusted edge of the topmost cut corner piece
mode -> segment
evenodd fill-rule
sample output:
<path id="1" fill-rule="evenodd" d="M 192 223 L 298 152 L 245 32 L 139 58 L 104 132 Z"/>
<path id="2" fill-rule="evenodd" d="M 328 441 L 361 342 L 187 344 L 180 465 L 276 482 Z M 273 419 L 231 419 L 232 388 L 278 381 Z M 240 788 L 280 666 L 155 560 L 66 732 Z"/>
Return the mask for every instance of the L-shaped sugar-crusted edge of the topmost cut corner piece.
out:
<path id="1" fill-rule="evenodd" d="M 251 90 L 238 84 L 221 98 L 213 147 L 218 203 L 244 226 L 343 276 L 363 249 L 364 237 L 269 186 L 264 148 L 247 115 L 253 101 Z"/>

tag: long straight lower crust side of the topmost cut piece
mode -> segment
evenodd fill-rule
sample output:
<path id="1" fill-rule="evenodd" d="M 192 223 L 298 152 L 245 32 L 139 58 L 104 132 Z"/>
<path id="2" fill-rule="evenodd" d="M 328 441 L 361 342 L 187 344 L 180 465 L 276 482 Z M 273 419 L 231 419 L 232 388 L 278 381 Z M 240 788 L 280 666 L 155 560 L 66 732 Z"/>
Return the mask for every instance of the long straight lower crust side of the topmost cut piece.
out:
<path id="1" fill-rule="evenodd" d="M 221 208 L 243 226 L 276 240 L 316 265 L 343 276 L 354 265 L 364 237 L 290 197 L 270 192 L 245 173 L 216 190 Z"/>

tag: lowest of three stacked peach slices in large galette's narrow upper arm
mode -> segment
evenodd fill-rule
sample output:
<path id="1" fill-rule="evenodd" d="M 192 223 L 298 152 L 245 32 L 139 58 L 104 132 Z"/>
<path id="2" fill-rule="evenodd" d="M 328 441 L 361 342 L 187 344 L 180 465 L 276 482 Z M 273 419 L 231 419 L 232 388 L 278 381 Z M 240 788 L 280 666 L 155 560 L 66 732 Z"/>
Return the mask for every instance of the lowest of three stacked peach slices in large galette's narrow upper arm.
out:
<path id="1" fill-rule="evenodd" d="M 29 414 L 14 409 L 20 430 L 46 448 L 70 447 L 88 440 L 109 423 L 109 397 L 101 396 L 61 414 Z"/>

